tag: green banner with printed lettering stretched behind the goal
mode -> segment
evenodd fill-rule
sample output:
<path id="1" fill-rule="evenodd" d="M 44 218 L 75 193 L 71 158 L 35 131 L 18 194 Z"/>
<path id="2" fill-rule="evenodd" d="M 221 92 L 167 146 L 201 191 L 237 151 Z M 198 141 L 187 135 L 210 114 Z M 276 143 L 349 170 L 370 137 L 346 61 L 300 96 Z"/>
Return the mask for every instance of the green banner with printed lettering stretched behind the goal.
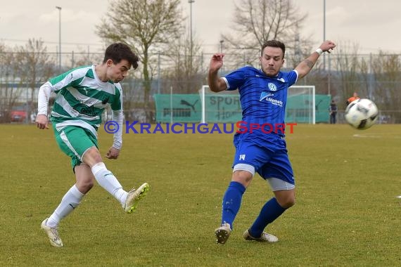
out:
<path id="1" fill-rule="evenodd" d="M 155 94 L 156 122 L 200 122 L 202 105 L 199 94 Z M 316 122 L 329 122 L 331 97 L 315 95 Z M 312 123 L 311 94 L 288 96 L 286 122 Z M 206 94 L 205 122 L 238 122 L 242 111 L 238 94 Z"/>

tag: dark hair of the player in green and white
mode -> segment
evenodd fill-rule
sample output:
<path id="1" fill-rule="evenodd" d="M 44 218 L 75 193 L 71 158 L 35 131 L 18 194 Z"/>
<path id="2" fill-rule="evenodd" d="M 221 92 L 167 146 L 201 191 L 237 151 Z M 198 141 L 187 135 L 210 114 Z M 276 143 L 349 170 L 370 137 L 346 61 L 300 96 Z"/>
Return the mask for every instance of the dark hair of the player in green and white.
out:
<path id="1" fill-rule="evenodd" d="M 132 65 L 134 70 L 138 67 L 139 58 L 134 52 L 132 52 L 131 48 L 129 48 L 127 44 L 110 44 L 104 53 L 103 63 L 106 63 L 106 61 L 109 59 L 113 60 L 114 64 L 118 64 L 121 62 L 121 60 L 125 59 L 130 65 Z"/>

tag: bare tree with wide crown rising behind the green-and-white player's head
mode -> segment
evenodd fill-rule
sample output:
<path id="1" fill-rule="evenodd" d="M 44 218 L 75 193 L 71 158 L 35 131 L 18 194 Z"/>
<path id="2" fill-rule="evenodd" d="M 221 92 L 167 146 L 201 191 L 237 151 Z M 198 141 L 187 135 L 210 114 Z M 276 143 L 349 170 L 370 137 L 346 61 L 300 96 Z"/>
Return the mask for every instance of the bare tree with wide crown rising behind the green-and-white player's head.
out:
<path id="1" fill-rule="evenodd" d="M 146 109 L 151 91 L 149 51 L 151 48 L 166 48 L 170 41 L 181 34 L 183 27 L 180 3 L 179 0 L 110 1 L 107 18 L 96 27 L 101 38 L 108 42 L 124 42 L 138 54 L 143 64 Z"/>

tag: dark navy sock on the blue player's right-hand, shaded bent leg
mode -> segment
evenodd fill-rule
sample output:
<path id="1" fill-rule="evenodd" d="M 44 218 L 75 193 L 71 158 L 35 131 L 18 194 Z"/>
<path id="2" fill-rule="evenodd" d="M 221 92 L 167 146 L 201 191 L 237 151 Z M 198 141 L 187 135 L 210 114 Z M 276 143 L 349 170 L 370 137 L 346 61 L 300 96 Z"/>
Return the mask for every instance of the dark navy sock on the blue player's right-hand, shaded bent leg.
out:
<path id="1" fill-rule="evenodd" d="M 279 202 L 276 200 L 276 197 L 273 197 L 262 207 L 259 216 L 257 216 L 255 222 L 249 229 L 250 235 L 253 237 L 260 237 L 266 226 L 269 223 L 272 223 L 275 219 L 279 218 L 284 211 L 286 211 L 286 209 L 280 206 Z"/>

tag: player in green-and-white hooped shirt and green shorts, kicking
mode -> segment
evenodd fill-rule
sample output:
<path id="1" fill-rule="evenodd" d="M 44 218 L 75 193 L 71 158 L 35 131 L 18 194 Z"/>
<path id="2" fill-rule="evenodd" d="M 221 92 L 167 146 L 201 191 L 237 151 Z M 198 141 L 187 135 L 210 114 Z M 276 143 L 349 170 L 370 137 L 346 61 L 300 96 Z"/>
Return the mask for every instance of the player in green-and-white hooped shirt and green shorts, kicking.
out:
<path id="1" fill-rule="evenodd" d="M 106 49 L 101 65 L 77 67 L 49 79 L 39 89 L 39 129 L 49 129 L 47 110 L 51 92 L 57 94 L 51 111 L 56 141 L 61 150 L 71 157 L 76 183 L 65 193 L 61 203 L 49 218 L 42 221 L 41 228 L 49 237 L 51 245 L 63 247 L 58 235 L 58 223 L 68 216 L 94 186 L 94 180 L 113 195 L 127 213 L 135 211 L 138 201 L 149 190 L 148 183 L 129 192 L 122 189 L 117 178 L 106 168 L 98 150 L 97 129 L 101 114 L 110 105 L 113 121 L 120 126 L 114 134 L 113 146 L 108 159 L 117 159 L 122 148 L 122 88 L 119 82 L 127 76 L 131 66 L 138 67 L 138 57 L 126 44 L 111 44 Z"/>

